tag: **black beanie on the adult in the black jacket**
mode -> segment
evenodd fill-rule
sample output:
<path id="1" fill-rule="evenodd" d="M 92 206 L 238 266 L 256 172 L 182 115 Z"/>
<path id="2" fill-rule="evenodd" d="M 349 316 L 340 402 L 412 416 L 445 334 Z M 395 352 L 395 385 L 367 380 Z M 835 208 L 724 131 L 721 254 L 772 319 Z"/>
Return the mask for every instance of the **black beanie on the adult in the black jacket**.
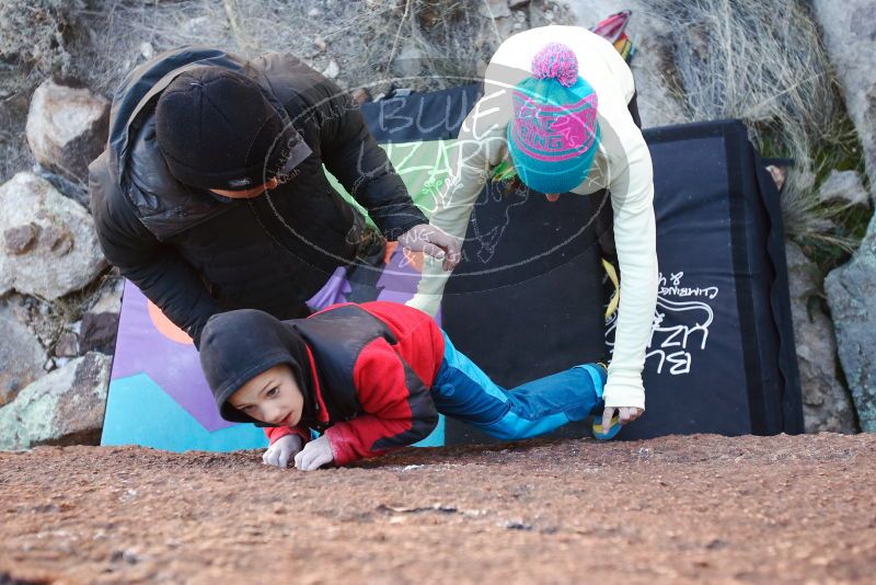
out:
<path id="1" fill-rule="evenodd" d="M 155 134 L 180 182 L 229 191 L 275 176 L 298 136 L 254 81 L 220 67 L 191 69 L 168 85 L 158 101 Z"/>

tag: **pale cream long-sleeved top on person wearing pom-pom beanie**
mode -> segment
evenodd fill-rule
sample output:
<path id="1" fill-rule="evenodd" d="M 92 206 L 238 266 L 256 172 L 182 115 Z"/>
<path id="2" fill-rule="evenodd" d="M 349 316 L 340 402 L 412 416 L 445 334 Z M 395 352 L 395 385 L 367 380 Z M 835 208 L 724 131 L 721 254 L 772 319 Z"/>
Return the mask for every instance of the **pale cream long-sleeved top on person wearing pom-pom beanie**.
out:
<path id="1" fill-rule="evenodd" d="M 451 174 L 438 193 L 431 223 L 457 238 L 465 237 L 472 206 L 491 170 L 503 160 L 510 162 L 506 130 L 512 113 L 511 90 L 529 77 L 532 58 L 551 42 L 575 53 L 578 74 L 598 100 L 599 152 L 585 182 L 572 192 L 588 195 L 608 188 L 614 209 L 621 292 L 606 406 L 644 409 L 642 368 L 657 303 L 653 169 L 648 147 L 627 110 L 633 74 L 608 41 L 577 26 L 552 25 L 516 34 L 499 46 L 486 69 L 484 96 L 465 118 L 452 147 Z M 407 305 L 434 316 L 449 276 L 439 262 L 427 259 L 417 294 Z"/>

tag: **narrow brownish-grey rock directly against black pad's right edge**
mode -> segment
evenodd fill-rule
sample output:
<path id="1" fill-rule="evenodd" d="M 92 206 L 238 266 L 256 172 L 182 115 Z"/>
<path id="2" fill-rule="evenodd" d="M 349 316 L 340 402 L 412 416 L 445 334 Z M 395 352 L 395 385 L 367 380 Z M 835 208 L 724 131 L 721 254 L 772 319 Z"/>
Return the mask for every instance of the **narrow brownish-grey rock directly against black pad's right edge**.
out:
<path id="1" fill-rule="evenodd" d="M 837 339 L 827 314 L 810 303 L 821 290 L 818 267 L 794 242 L 785 242 L 794 342 L 807 433 L 855 433 L 854 406 L 837 377 Z"/>

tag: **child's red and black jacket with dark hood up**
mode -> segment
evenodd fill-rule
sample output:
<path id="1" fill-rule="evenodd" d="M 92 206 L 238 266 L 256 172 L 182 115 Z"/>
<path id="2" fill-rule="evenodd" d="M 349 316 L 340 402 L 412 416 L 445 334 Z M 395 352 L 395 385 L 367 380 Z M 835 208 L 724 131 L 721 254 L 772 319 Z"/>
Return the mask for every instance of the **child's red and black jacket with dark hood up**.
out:
<path id="1" fill-rule="evenodd" d="M 435 428 L 429 389 L 443 335 L 426 313 L 394 302 L 335 305 L 278 321 L 244 309 L 210 318 L 200 358 L 222 416 L 254 422 L 228 404 L 253 376 L 288 364 L 304 393 L 296 427 L 266 427 L 273 444 L 308 428 L 324 432 L 336 464 L 416 443 Z"/>

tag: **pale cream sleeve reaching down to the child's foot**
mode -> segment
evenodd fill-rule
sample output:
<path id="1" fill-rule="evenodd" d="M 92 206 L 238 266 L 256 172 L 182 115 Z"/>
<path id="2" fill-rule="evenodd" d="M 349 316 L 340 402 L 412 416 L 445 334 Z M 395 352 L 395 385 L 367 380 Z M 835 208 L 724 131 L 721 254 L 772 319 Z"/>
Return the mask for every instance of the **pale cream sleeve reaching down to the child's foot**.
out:
<path id="1" fill-rule="evenodd" d="M 614 349 L 603 394 L 607 409 L 645 408 L 642 369 L 657 305 L 654 171 L 642 133 L 627 117 L 603 135 L 614 153 L 609 188 L 621 267 Z"/>

